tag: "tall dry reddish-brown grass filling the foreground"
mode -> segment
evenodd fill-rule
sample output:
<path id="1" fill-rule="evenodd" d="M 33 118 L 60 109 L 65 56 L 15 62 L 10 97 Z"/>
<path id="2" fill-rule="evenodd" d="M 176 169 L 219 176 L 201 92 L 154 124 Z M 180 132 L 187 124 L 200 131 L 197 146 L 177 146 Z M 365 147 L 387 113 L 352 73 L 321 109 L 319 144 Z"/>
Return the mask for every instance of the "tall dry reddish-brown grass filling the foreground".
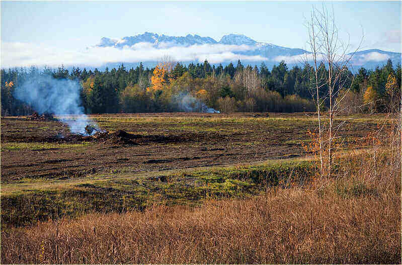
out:
<path id="1" fill-rule="evenodd" d="M 319 191 L 276 188 L 199 208 L 154 206 L 2 231 L 1 261 L 400 263 L 400 173 L 386 153 L 376 175 L 362 164 L 366 173 L 352 170 Z"/>

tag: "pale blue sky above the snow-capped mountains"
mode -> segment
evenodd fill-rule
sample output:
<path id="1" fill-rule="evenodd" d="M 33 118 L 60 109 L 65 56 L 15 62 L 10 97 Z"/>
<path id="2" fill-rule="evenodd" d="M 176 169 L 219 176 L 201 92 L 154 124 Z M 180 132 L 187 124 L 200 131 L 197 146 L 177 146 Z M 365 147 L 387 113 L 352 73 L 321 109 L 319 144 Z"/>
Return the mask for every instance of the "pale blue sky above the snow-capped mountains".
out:
<path id="1" fill-rule="evenodd" d="M 340 37 L 346 41 L 350 37 L 350 51 L 360 43 L 362 34 L 361 50 L 401 51 L 401 2 L 324 3 L 334 9 Z M 306 48 L 305 19 L 312 6 L 322 4 L 2 1 L 2 67 L 85 62 L 104 53 L 97 50 L 83 55 L 86 47 L 96 45 L 102 37 L 120 39 L 146 31 L 170 36 L 198 34 L 216 41 L 236 33 L 259 42 Z"/>

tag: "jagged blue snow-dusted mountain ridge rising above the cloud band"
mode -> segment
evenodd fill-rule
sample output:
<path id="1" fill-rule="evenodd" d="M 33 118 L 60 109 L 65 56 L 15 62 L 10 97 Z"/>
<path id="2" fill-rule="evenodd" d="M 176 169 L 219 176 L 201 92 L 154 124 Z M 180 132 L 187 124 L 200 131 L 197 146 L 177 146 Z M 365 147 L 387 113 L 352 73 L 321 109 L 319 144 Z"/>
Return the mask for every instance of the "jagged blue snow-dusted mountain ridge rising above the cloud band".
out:
<path id="1" fill-rule="evenodd" d="M 278 46 L 272 43 L 258 42 L 252 38 L 243 34 L 227 34 L 222 36 L 219 41 L 214 40 L 211 37 L 202 37 L 197 34 L 187 34 L 186 36 L 169 36 L 159 35 L 157 33 L 144 32 L 143 34 L 137 34 L 134 36 L 126 36 L 121 39 L 111 39 L 103 37 L 95 47 L 114 47 L 118 49 L 131 48 L 140 49 L 139 43 L 148 43 L 150 47 L 155 49 L 170 48 L 170 47 L 190 47 L 193 45 L 231 45 L 246 47 L 244 49 L 237 49 L 231 51 L 237 55 L 246 56 L 260 56 L 265 60 L 259 60 L 258 63 L 264 61 L 266 65 L 273 66 L 278 64 L 280 60 L 288 60 L 289 66 L 298 64 L 299 61 L 296 57 L 305 53 L 310 53 L 300 48 L 288 48 Z M 93 46 L 94 47 L 94 46 Z M 349 53 L 352 54 L 352 53 Z M 375 68 L 377 65 L 381 66 L 386 63 L 388 59 L 391 59 L 394 65 L 401 62 L 401 53 L 383 51 L 380 49 L 368 49 L 358 51 L 354 54 L 352 64 L 355 66 L 363 66 L 365 68 Z M 247 60 L 242 60 L 247 61 Z M 249 61 L 250 63 L 257 61 Z"/>

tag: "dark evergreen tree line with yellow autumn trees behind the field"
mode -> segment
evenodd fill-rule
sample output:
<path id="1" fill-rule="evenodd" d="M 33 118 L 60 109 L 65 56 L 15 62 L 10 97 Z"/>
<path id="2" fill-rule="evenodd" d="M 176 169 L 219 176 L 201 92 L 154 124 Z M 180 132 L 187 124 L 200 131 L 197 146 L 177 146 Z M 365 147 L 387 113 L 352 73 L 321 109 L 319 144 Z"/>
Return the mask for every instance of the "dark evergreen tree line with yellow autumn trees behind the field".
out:
<path id="1" fill-rule="evenodd" d="M 388 60 L 374 70 L 360 68 L 353 74 L 343 69 L 343 79 L 337 85 L 338 98 L 344 99 L 344 112 L 383 112 L 390 97 L 400 93 L 401 67 L 393 67 Z M 340 71 L 340 69 L 334 69 Z M 326 76 L 327 68 L 320 65 L 318 76 Z M 81 84 L 82 106 L 86 113 L 177 112 L 211 109 L 220 112 L 303 112 L 315 111 L 314 68 L 306 64 L 288 69 L 281 61 L 269 70 L 264 63 L 244 66 L 240 60 L 234 66 L 223 67 L 204 63 L 166 61 L 154 68 L 118 69 L 105 71 L 63 66 L 57 69 L 35 66 L 1 70 L 2 115 L 30 115 L 34 110 L 14 98 L 19 84 L 35 75 L 51 75 L 56 79 L 76 80 Z M 395 77 L 391 94 L 387 89 L 389 76 Z M 353 83 L 352 83 L 353 81 Z M 320 84 L 323 108 L 328 106 L 325 80 Z M 389 83 L 389 81 L 388 81 Z M 347 90 L 351 86 L 351 90 Z M 388 85 L 389 86 L 389 85 Z M 353 104 L 350 104 L 353 103 Z M 353 105 L 353 106 L 352 106 Z M 361 106 L 356 108 L 356 106 Z"/>

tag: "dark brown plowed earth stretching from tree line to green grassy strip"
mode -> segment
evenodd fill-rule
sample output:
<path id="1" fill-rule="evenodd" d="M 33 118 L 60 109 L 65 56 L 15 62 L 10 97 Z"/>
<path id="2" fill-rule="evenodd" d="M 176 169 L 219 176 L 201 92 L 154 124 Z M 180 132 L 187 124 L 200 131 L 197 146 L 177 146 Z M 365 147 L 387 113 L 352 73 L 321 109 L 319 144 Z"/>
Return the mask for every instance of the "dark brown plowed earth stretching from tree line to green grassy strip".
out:
<path id="1" fill-rule="evenodd" d="M 309 115 L 92 115 L 100 128 L 110 132 L 97 138 L 71 134 L 58 121 L 5 117 L 1 121 L 1 182 L 304 156 L 308 153 L 301 142 L 308 141 L 307 130 L 316 127 L 313 114 Z M 375 127 L 373 122 L 354 121 L 343 132 L 358 138 Z"/>

